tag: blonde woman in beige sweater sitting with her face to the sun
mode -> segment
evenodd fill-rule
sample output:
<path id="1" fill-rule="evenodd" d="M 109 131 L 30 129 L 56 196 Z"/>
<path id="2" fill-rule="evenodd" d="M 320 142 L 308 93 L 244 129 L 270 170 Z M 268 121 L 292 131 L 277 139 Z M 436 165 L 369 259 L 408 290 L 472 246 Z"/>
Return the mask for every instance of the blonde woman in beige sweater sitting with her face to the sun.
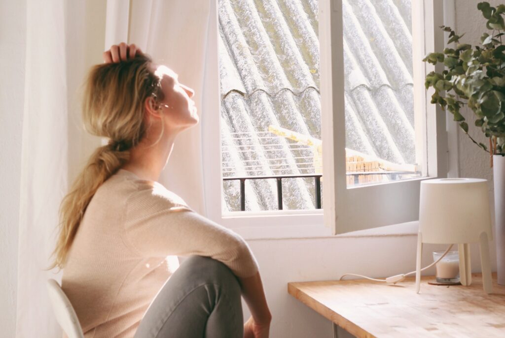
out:
<path id="1" fill-rule="evenodd" d="M 83 118 L 110 142 L 63 199 L 54 252 L 84 336 L 268 337 L 247 243 L 157 182 L 177 134 L 198 123 L 194 91 L 133 44 L 104 59 L 89 73 Z M 178 255 L 191 257 L 178 267 Z"/>

